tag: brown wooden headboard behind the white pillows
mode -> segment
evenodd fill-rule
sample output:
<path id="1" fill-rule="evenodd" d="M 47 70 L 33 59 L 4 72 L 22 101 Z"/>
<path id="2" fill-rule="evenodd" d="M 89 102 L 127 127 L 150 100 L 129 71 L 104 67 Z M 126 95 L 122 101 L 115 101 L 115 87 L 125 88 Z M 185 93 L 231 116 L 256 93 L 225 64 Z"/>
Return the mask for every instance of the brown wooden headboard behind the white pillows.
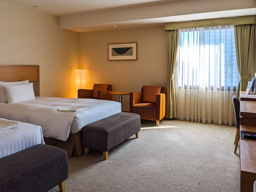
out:
<path id="1" fill-rule="evenodd" d="M 0 81 L 33 82 L 35 96 L 39 96 L 39 65 L 0 65 Z"/>

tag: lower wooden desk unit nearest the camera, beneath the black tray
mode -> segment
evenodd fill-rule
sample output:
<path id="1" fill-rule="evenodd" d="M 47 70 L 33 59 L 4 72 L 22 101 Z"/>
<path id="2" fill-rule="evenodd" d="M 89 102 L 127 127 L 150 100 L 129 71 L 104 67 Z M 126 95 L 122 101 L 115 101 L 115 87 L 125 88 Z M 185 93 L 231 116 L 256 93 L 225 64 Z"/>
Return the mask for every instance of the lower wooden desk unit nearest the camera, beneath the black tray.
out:
<path id="1" fill-rule="evenodd" d="M 256 132 L 255 126 L 240 125 L 240 131 Z M 240 192 L 253 192 L 256 181 L 256 141 L 240 138 Z"/>

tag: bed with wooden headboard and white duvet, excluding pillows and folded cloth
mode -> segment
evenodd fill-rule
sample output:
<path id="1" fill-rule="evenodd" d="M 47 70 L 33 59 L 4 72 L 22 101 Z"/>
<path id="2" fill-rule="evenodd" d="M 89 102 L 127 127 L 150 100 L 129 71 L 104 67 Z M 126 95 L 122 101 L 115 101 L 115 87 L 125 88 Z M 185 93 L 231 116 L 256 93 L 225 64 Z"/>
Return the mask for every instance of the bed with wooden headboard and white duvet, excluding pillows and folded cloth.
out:
<path id="1" fill-rule="evenodd" d="M 42 127 L 46 144 L 65 149 L 68 157 L 81 156 L 81 129 L 85 125 L 121 112 L 115 101 L 39 97 L 39 65 L 0 65 L 0 81 L 33 82 L 35 100 L 0 103 L 0 118 Z M 77 112 L 60 112 L 59 107 L 87 107 Z"/>

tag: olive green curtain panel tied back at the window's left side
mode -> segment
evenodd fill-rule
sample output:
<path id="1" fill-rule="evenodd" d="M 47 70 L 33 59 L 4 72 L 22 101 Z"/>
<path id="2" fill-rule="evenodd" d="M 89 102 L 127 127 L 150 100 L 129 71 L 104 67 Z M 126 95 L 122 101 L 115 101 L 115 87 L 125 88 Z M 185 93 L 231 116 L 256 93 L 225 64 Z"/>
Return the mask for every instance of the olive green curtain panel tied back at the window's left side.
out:
<path id="1" fill-rule="evenodd" d="M 166 49 L 167 49 L 167 89 L 166 89 L 166 118 L 176 117 L 176 100 L 175 100 L 175 85 L 174 72 L 177 60 L 179 30 L 166 31 Z"/>

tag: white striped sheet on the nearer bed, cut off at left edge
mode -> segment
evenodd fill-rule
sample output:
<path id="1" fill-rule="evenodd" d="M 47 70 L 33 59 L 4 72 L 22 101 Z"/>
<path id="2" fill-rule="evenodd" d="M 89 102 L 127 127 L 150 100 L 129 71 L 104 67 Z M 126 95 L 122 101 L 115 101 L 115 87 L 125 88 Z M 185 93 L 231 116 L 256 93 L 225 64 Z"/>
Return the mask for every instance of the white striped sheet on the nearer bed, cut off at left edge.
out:
<path id="1" fill-rule="evenodd" d="M 44 144 L 41 126 L 21 123 L 17 127 L 2 130 L 0 131 L 0 158 L 37 144 Z"/>

